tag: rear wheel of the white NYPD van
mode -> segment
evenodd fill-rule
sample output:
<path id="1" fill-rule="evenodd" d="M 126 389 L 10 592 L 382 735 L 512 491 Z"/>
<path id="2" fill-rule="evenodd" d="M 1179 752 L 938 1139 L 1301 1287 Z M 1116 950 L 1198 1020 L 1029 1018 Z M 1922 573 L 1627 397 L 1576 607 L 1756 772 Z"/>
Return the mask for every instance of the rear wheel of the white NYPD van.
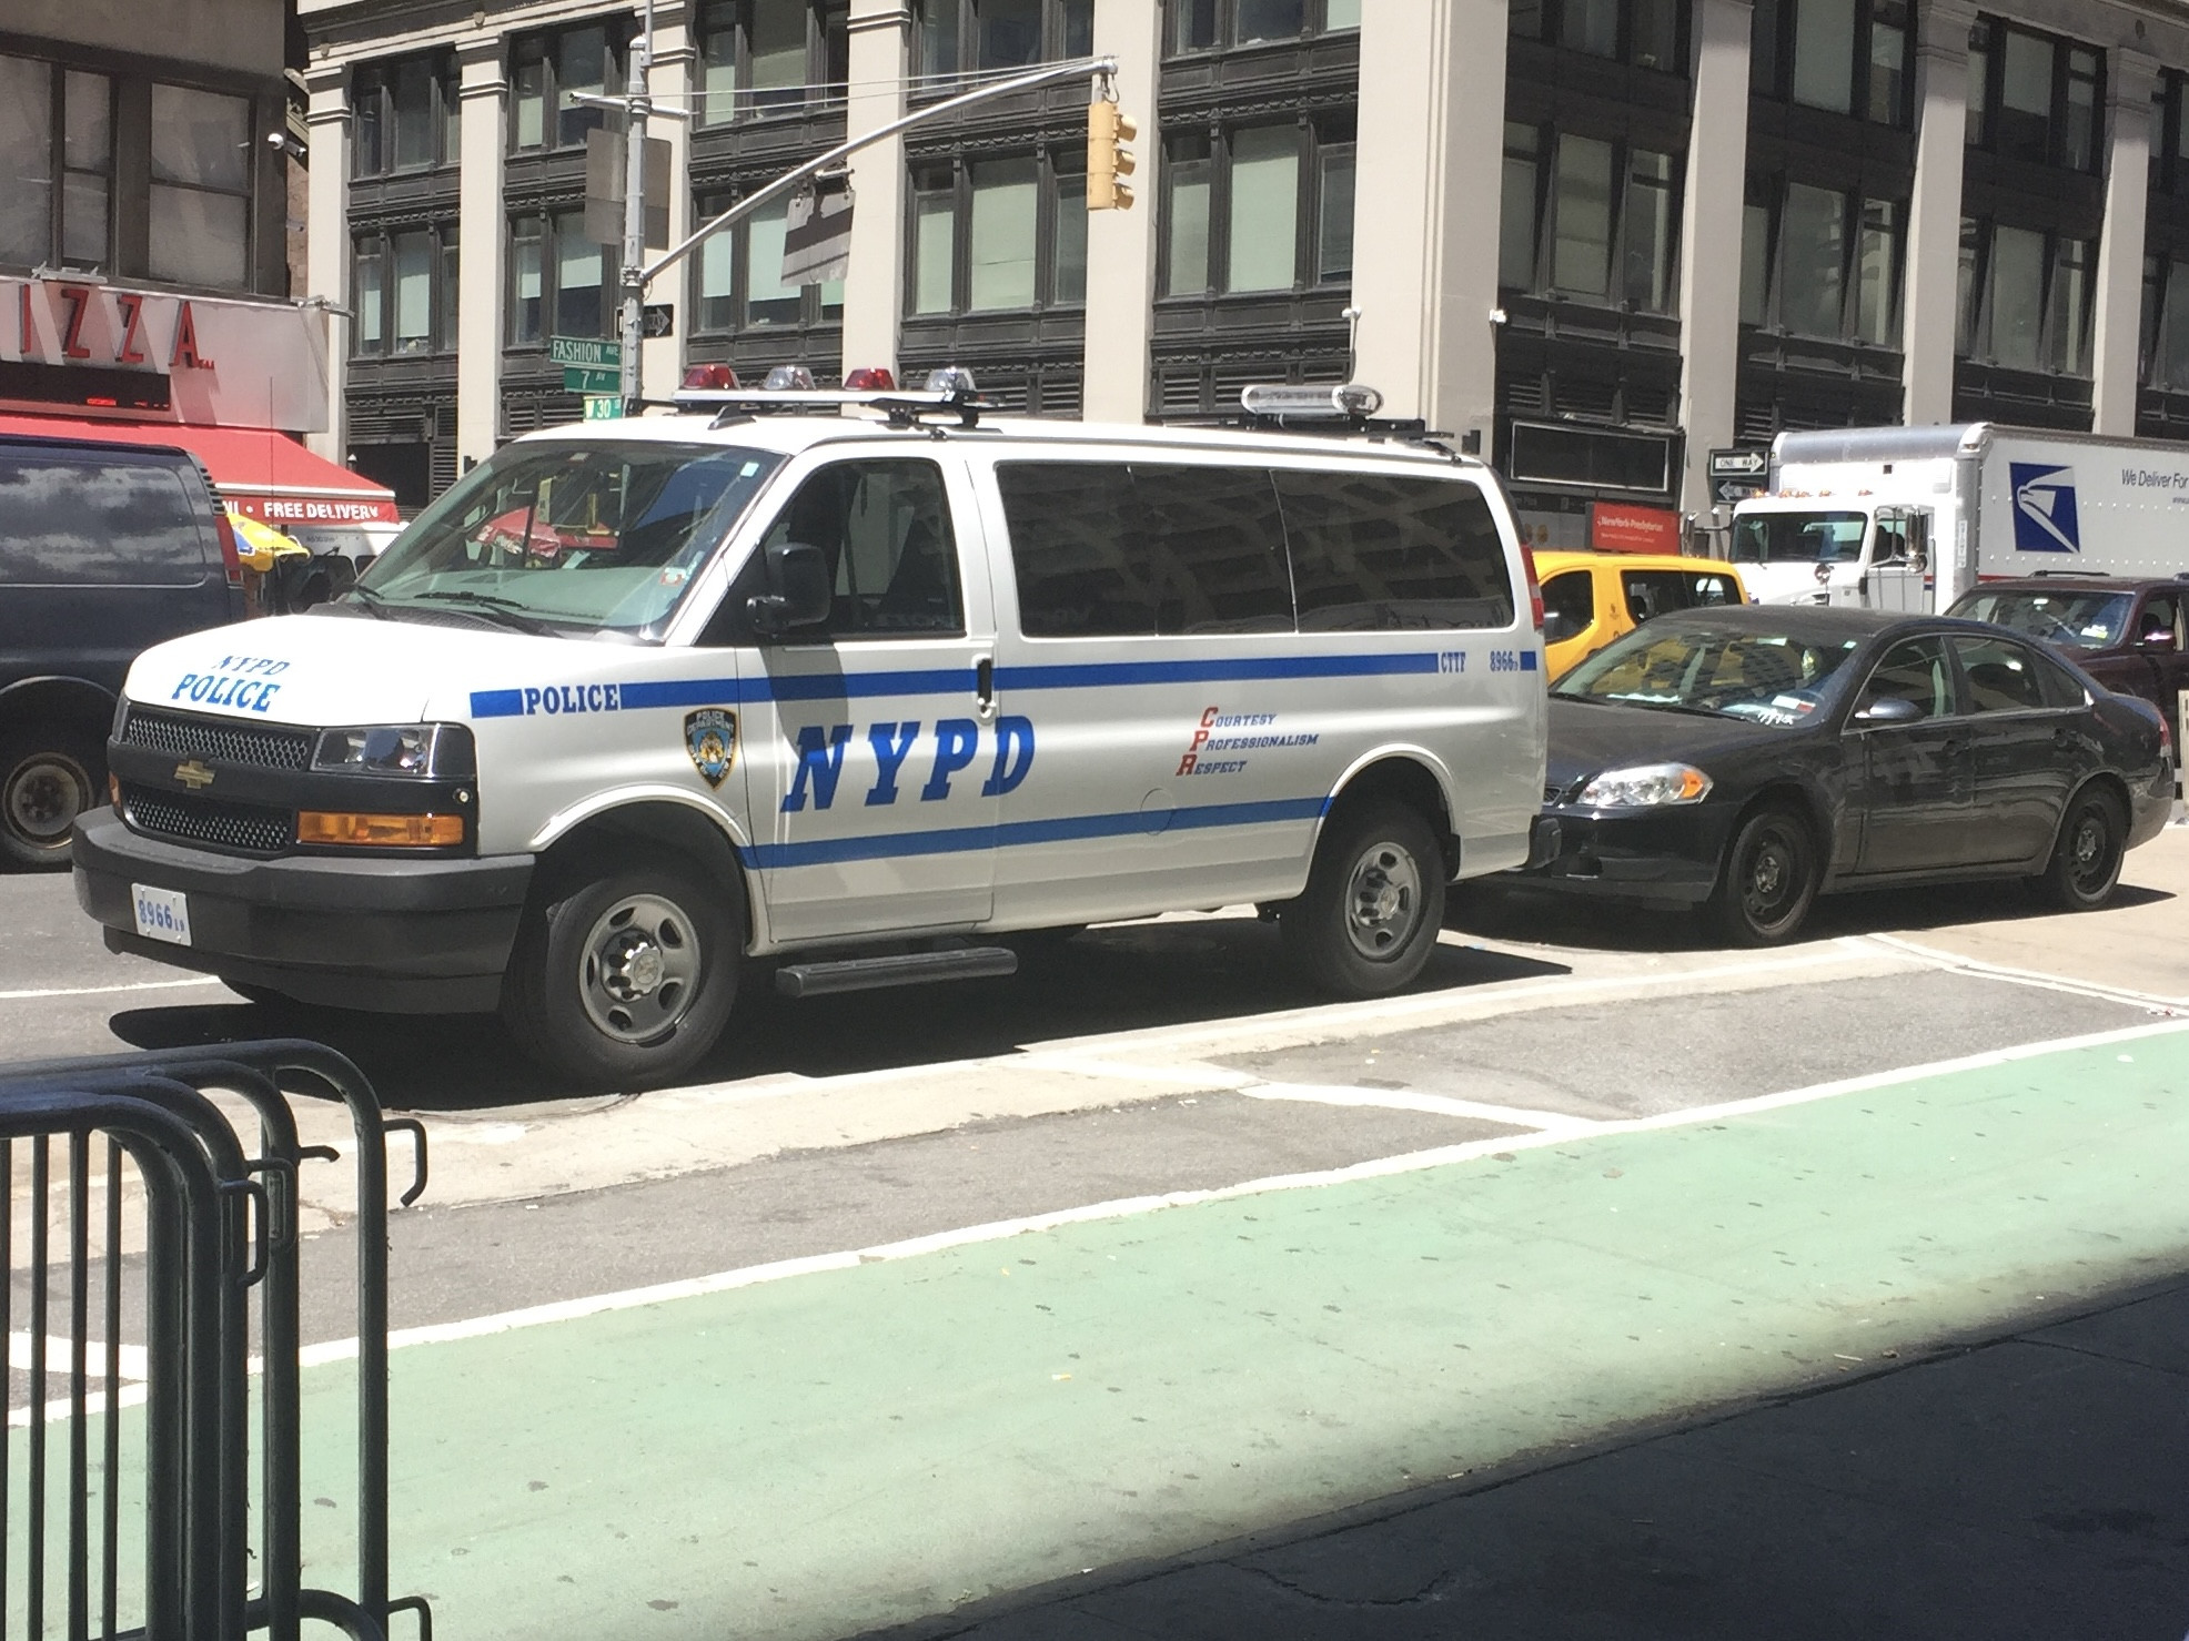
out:
<path id="1" fill-rule="evenodd" d="M 1381 998 L 1429 961 L 1445 923 L 1445 851 L 1418 810 L 1340 810 L 1316 847 L 1307 891 L 1278 910 L 1294 963 L 1340 998 Z"/>

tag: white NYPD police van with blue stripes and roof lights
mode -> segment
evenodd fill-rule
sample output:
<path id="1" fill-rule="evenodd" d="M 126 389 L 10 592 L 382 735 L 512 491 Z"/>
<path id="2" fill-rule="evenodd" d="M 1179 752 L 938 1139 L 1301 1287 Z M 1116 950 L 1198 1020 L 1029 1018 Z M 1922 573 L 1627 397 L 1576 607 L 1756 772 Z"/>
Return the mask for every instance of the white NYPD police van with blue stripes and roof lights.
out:
<path id="1" fill-rule="evenodd" d="M 107 945 L 499 1009 L 637 1087 L 749 961 L 812 996 L 1259 904 L 1383 993 L 1447 880 L 1528 853 L 1541 604 L 1480 462 L 963 385 L 692 398 L 508 444 L 337 604 L 147 650 L 74 836 Z"/>

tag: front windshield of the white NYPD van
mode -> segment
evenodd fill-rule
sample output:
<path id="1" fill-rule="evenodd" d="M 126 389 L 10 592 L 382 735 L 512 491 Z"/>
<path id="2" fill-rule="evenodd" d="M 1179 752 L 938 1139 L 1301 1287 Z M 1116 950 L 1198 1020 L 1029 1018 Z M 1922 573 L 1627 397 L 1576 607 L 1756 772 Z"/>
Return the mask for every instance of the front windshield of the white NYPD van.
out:
<path id="1" fill-rule="evenodd" d="M 781 459 L 720 444 L 514 444 L 372 562 L 361 602 L 655 639 Z"/>

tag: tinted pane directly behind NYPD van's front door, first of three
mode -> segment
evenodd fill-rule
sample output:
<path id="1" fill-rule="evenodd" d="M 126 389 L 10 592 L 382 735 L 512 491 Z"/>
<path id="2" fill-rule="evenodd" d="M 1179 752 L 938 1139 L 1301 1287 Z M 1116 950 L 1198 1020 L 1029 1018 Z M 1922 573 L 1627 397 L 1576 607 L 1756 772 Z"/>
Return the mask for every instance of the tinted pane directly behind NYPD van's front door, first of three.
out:
<path id="1" fill-rule="evenodd" d="M 1132 473 L 1116 462 L 1000 462 L 1018 626 L 1029 639 L 1156 632 L 1160 575 L 1145 551 Z"/>

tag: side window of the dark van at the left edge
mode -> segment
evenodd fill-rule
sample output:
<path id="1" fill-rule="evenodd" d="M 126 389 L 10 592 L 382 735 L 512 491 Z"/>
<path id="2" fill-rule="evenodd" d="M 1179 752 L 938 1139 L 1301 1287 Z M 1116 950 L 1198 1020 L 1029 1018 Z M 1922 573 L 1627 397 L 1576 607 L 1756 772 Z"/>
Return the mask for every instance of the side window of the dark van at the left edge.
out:
<path id="1" fill-rule="evenodd" d="M 0 455 L 0 584 L 197 586 L 206 540 L 182 479 L 151 462 Z"/>

